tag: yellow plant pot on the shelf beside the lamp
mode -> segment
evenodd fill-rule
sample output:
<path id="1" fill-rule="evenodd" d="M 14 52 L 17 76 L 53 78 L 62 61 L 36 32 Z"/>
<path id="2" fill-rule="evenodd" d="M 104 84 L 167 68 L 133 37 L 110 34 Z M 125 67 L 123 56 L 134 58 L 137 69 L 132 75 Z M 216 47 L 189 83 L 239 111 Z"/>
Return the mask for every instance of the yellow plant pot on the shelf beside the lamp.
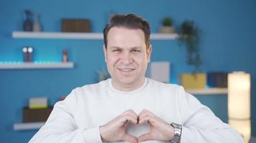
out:
<path id="1" fill-rule="evenodd" d="M 184 89 L 204 89 L 206 87 L 206 74 L 180 74 L 180 82 Z"/>

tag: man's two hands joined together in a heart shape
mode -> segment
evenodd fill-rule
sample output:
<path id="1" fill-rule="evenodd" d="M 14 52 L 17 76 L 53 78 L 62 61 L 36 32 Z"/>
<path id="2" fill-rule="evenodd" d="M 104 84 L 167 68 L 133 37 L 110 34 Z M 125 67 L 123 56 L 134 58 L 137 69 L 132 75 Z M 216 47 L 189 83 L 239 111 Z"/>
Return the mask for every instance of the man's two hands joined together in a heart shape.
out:
<path id="1" fill-rule="evenodd" d="M 150 124 L 150 132 L 133 137 L 125 132 L 128 122 L 133 124 Z M 143 109 L 139 116 L 129 109 L 118 117 L 112 119 L 109 123 L 100 127 L 101 139 L 103 142 L 128 141 L 132 143 L 143 142 L 147 140 L 170 141 L 173 138 L 174 129 L 163 119 L 152 114 L 147 109 Z"/>

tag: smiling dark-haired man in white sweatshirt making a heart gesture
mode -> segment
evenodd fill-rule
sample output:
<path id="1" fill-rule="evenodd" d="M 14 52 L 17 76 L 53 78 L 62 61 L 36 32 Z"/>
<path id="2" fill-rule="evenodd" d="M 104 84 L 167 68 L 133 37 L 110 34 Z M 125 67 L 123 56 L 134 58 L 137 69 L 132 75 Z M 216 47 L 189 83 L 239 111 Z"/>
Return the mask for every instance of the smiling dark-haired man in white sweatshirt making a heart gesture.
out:
<path id="1" fill-rule="evenodd" d="M 145 78 L 150 26 L 134 14 L 104 29 L 111 79 L 74 89 L 29 142 L 243 142 L 183 87 Z"/>

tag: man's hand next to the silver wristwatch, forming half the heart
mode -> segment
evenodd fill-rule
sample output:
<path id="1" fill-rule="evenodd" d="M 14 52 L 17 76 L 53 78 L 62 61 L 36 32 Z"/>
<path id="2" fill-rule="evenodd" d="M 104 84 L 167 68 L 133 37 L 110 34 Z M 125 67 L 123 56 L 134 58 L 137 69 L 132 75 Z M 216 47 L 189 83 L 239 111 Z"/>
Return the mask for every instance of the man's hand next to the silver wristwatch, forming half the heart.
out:
<path id="1" fill-rule="evenodd" d="M 147 109 L 143 109 L 139 114 L 139 124 L 143 124 L 144 122 L 150 124 L 150 132 L 138 137 L 138 142 L 147 140 L 170 141 L 173 139 L 174 128 Z"/>

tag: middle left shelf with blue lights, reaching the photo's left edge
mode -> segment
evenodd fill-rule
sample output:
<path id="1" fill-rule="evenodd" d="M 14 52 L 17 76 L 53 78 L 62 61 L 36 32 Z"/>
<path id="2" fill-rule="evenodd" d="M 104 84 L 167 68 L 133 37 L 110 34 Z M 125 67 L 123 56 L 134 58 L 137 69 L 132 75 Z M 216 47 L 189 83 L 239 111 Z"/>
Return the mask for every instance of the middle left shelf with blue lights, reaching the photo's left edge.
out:
<path id="1" fill-rule="evenodd" d="M 0 64 L 0 69 L 72 69 L 73 62 L 66 63 L 8 63 Z"/>

